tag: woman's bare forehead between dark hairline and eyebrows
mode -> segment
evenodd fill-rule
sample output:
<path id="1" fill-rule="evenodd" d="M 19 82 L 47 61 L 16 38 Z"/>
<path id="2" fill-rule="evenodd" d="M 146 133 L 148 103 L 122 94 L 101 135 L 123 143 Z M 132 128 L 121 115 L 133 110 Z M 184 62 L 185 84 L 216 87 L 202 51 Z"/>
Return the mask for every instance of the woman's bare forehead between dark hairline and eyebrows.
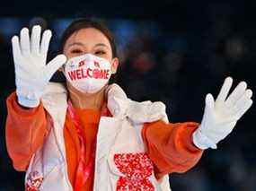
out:
<path id="1" fill-rule="evenodd" d="M 73 43 L 82 43 L 84 46 L 93 46 L 103 43 L 110 48 L 110 40 L 102 33 L 101 30 L 87 28 L 75 31 L 67 40 L 65 47 Z"/>

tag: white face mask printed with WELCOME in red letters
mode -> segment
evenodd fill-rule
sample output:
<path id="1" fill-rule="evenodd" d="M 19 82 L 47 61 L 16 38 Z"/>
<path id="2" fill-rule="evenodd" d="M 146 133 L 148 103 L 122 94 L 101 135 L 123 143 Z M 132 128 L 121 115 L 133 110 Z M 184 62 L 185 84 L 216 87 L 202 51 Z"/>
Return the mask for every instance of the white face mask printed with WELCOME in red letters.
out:
<path id="1" fill-rule="evenodd" d="M 65 75 L 66 80 L 78 91 L 94 93 L 109 82 L 111 65 L 102 57 L 85 54 L 67 61 Z"/>

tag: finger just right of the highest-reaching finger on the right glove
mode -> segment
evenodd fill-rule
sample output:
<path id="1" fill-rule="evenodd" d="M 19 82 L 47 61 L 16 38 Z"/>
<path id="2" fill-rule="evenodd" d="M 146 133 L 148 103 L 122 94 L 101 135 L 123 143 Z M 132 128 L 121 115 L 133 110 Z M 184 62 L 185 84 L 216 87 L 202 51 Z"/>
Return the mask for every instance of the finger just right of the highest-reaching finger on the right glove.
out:
<path id="1" fill-rule="evenodd" d="M 234 89 L 234 91 L 230 94 L 230 96 L 225 101 L 225 104 L 228 107 L 232 107 L 237 100 L 239 100 L 243 94 L 245 93 L 247 88 L 246 82 L 240 82 Z"/>

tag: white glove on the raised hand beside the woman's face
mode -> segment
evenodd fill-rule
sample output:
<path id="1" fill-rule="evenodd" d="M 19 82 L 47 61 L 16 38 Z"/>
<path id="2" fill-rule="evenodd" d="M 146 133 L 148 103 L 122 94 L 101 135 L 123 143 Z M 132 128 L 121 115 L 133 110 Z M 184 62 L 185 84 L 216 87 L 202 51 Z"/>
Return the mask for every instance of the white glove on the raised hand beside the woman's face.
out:
<path id="1" fill-rule="evenodd" d="M 66 56 L 58 55 L 46 65 L 51 31 L 45 30 L 41 37 L 40 26 L 31 31 L 23 28 L 19 37 L 12 39 L 15 82 L 18 102 L 28 108 L 37 107 L 51 76 L 66 63 Z M 40 41 L 41 39 L 41 41 Z"/>

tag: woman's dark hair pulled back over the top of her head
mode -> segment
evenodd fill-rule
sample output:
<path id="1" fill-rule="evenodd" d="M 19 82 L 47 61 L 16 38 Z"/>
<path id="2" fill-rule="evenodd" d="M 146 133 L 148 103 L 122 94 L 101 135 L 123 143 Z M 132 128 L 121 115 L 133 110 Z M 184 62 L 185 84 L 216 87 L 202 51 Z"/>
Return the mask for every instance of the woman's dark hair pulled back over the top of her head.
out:
<path id="1" fill-rule="evenodd" d="M 63 52 L 66 40 L 74 34 L 75 31 L 83 30 L 87 28 L 94 28 L 96 30 L 100 30 L 107 39 L 110 40 L 110 47 L 112 49 L 112 57 L 117 57 L 117 48 L 116 43 L 113 37 L 113 34 L 111 31 L 105 26 L 105 24 L 97 19 L 78 19 L 74 22 L 71 22 L 71 24 L 66 28 L 64 31 L 61 39 L 60 39 L 60 51 Z"/>

